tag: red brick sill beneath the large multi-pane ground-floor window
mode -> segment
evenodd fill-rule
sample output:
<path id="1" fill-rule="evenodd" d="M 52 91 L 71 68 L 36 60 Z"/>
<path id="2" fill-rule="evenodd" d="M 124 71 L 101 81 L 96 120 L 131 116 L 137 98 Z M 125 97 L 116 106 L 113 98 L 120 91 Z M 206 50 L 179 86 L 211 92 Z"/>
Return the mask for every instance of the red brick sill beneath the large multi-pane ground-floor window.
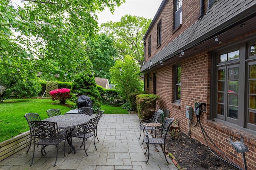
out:
<path id="1" fill-rule="evenodd" d="M 226 125 L 224 123 L 220 123 L 218 121 L 206 120 L 206 123 L 218 130 L 225 132 L 226 134 L 231 135 L 232 137 L 240 138 L 242 135 L 244 141 L 246 141 L 247 143 L 250 143 L 252 145 L 256 144 L 256 135 L 255 134 L 252 134 L 250 132 L 244 131 L 244 130 L 236 128 L 236 127 L 232 127 L 230 125 Z M 227 138 L 228 138 L 228 136 L 227 136 Z"/>

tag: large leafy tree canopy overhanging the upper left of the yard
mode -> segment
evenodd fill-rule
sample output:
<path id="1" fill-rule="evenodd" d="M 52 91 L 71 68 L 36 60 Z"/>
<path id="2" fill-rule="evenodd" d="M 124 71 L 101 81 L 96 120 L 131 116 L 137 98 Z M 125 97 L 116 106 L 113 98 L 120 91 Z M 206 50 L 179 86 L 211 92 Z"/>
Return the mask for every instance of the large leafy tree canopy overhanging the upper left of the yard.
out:
<path id="1" fill-rule="evenodd" d="M 39 71 L 55 75 L 91 70 L 84 43 L 98 31 L 97 12 L 106 7 L 113 12 L 124 0 L 21 2 L 23 8 L 0 1 L 0 76 L 18 75 L 4 88 Z"/>

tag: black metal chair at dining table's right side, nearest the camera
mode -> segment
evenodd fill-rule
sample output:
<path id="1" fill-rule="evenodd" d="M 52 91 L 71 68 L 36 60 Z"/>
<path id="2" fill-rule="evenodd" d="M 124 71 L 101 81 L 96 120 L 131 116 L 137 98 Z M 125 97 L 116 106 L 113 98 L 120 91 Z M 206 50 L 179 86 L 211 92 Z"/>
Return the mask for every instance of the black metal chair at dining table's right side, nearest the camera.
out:
<path id="1" fill-rule="evenodd" d="M 103 114 L 103 112 L 100 112 L 94 118 L 90 119 L 90 121 L 88 123 L 86 123 L 84 125 L 80 125 L 78 128 L 70 129 L 70 131 L 73 131 L 73 130 L 77 131 L 77 133 L 74 133 L 72 135 L 72 137 L 82 138 L 83 139 L 82 145 L 84 145 L 84 140 L 85 139 L 87 140 L 89 137 L 93 136 L 94 147 L 97 150 L 96 145 L 95 145 L 95 137 L 96 137 L 95 131 L 96 131 L 96 127 L 98 125 L 98 122 L 99 122 L 102 114 Z M 82 145 L 80 147 L 82 147 Z M 86 149 L 85 149 L 85 145 L 84 145 L 84 151 L 86 153 L 86 156 L 88 156 Z"/>

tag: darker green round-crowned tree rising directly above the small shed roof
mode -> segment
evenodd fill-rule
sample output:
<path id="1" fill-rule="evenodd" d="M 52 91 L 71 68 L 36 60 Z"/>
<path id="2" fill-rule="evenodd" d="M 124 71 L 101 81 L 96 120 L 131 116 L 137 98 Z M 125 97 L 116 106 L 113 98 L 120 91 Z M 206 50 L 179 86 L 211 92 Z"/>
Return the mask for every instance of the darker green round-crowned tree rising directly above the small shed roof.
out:
<path id="1" fill-rule="evenodd" d="M 114 65 L 116 49 L 113 40 L 104 33 L 91 37 L 86 43 L 86 54 L 97 77 L 110 79 L 109 69 Z"/>

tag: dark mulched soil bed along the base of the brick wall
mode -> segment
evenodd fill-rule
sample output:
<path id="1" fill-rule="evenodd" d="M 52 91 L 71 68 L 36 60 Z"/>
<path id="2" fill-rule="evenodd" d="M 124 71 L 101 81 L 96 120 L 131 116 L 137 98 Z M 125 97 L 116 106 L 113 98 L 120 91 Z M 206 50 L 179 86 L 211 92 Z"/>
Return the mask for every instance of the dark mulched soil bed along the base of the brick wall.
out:
<path id="1" fill-rule="evenodd" d="M 166 148 L 184 170 L 239 170 L 214 156 L 208 147 L 199 141 L 182 132 L 175 133 L 175 139 L 172 139 L 171 135 L 168 134 Z M 223 156 L 220 157 L 223 158 Z"/>

